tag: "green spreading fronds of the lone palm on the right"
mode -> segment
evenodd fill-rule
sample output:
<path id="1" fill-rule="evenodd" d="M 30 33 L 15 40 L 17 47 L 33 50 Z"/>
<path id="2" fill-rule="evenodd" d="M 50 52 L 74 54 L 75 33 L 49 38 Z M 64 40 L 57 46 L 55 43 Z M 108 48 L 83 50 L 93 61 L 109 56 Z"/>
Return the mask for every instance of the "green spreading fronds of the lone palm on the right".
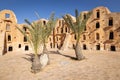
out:
<path id="1" fill-rule="evenodd" d="M 89 19 L 90 15 L 91 15 L 91 11 L 88 12 L 88 14 L 86 15 L 86 19 L 83 19 L 83 15 L 82 13 L 78 13 L 78 10 L 75 10 L 75 18 L 76 18 L 76 22 L 73 22 L 72 17 L 70 15 L 65 15 L 62 16 L 63 19 L 65 20 L 65 22 L 67 23 L 67 25 L 71 28 L 71 30 L 77 35 L 77 40 L 80 39 L 80 35 L 81 33 L 84 31 L 85 27 L 86 27 L 86 22 Z"/>

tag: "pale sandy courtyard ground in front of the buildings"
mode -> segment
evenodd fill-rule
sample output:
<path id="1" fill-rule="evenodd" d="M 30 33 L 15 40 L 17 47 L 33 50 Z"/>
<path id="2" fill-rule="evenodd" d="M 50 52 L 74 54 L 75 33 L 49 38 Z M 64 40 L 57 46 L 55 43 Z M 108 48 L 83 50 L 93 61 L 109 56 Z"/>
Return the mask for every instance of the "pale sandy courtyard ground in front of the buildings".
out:
<path id="1" fill-rule="evenodd" d="M 83 51 L 86 59 L 76 61 L 74 51 L 52 51 L 51 64 L 31 73 L 27 53 L 0 56 L 0 80 L 120 80 L 120 52 Z"/>

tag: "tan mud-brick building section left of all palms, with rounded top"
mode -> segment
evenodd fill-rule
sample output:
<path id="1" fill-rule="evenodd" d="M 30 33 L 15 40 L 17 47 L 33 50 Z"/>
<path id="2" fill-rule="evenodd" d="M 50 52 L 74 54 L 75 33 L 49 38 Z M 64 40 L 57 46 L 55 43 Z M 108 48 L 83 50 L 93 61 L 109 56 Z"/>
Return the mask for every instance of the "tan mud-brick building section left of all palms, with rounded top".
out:
<path id="1" fill-rule="evenodd" d="M 17 30 L 16 26 L 26 30 L 23 24 L 17 23 L 13 11 L 0 11 L 0 55 L 7 52 L 29 50 L 27 39 Z"/>

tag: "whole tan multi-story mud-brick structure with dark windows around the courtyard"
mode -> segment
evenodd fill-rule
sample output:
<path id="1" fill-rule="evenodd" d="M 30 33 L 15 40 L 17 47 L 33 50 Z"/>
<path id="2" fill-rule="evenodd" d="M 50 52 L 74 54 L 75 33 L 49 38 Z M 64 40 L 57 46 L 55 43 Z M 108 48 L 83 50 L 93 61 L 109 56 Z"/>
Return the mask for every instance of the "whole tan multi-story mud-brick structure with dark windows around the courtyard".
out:
<path id="1" fill-rule="evenodd" d="M 82 12 L 83 18 L 87 11 Z M 87 21 L 80 43 L 83 50 L 120 51 L 120 13 L 111 13 L 106 7 L 97 7 Z M 73 20 L 75 18 L 72 16 Z M 43 24 L 47 20 L 41 19 Z M 16 26 L 25 30 L 26 24 L 18 24 L 13 11 L 0 11 L 0 54 L 11 51 L 31 50 L 27 39 L 17 30 Z M 76 36 L 61 18 L 57 21 L 47 44 L 48 48 L 68 49 L 75 45 Z"/>

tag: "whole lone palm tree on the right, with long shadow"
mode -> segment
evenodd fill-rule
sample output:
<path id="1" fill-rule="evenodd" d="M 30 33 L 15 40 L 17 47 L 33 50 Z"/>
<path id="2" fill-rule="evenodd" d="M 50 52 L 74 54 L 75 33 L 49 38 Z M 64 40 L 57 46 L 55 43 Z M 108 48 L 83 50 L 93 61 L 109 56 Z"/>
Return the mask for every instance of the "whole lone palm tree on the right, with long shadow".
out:
<path id="1" fill-rule="evenodd" d="M 90 15 L 91 15 L 91 12 L 88 12 L 86 14 L 86 18 L 83 19 L 82 13 L 80 13 L 80 15 L 79 15 L 78 10 L 75 10 L 76 22 L 74 22 L 72 17 L 68 14 L 63 16 L 63 19 L 65 20 L 67 25 L 71 28 L 71 30 L 76 35 L 75 54 L 76 54 L 77 60 L 82 60 L 85 58 L 81 52 L 79 40 L 80 40 L 80 36 L 81 36 L 82 32 L 84 31 L 84 29 L 86 27 L 86 22 L 89 19 Z"/>

